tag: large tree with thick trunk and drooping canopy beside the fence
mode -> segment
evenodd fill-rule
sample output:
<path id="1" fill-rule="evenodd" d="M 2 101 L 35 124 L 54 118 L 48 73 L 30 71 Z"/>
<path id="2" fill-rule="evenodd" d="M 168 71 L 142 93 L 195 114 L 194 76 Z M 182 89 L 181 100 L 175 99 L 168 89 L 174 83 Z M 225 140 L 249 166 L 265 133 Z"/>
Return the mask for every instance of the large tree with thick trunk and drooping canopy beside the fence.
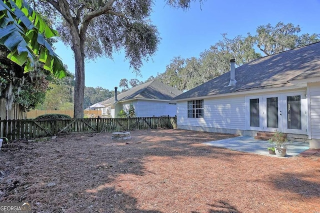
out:
<path id="1" fill-rule="evenodd" d="M 190 1 L 166 0 L 173 7 L 188 8 Z M 201 0 L 198 0 L 201 2 Z M 75 60 L 74 117 L 83 117 L 84 58 L 112 58 L 123 50 L 138 72 L 143 59 L 157 50 L 159 34 L 149 19 L 152 0 L 34 0 L 51 14 Z M 57 12 L 56 12 L 57 11 Z"/>

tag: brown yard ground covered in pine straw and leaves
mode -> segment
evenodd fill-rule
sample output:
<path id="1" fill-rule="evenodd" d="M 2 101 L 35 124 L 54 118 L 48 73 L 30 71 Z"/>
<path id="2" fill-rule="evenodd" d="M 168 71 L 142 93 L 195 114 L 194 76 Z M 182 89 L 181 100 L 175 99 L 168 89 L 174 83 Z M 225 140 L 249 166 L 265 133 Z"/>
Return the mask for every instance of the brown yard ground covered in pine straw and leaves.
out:
<path id="1" fill-rule="evenodd" d="M 0 202 L 34 212 L 320 212 L 320 159 L 270 157 L 179 129 L 68 134 L 0 151 Z"/>

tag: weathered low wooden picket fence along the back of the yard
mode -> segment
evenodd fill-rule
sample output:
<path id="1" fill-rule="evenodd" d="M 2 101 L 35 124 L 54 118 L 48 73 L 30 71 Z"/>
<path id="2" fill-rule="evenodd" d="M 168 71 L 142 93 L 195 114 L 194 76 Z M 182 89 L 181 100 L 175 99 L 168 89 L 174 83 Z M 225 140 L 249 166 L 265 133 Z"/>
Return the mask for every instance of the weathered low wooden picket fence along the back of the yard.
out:
<path id="1" fill-rule="evenodd" d="M 71 132 L 114 132 L 154 128 L 176 128 L 176 117 L 0 120 L 0 136 L 9 140 Z"/>

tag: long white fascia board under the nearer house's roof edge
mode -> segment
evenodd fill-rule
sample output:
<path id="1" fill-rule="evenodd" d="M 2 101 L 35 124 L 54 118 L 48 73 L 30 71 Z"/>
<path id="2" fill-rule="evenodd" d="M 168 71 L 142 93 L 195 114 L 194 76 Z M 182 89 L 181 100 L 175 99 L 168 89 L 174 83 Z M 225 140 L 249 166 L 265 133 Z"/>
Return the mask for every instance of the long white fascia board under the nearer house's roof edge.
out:
<path id="1" fill-rule="evenodd" d="M 174 101 L 185 101 L 185 100 L 194 100 L 194 99 L 204 99 L 204 98 L 213 98 L 213 97 L 225 97 L 225 96 L 236 96 L 236 95 L 248 95 L 248 94 L 261 94 L 265 92 L 272 92 L 272 91 L 286 91 L 290 89 L 297 89 L 301 88 L 300 86 L 286 86 L 286 87 L 278 87 L 278 88 L 268 88 L 268 89 L 256 89 L 256 90 L 247 90 L 247 91 L 238 91 L 238 92 L 232 92 L 232 93 L 224 93 L 224 94 L 215 94 L 215 95 L 207 95 L 207 96 L 199 96 L 199 97 L 189 97 L 189 98 L 183 98 L 183 99 L 175 99 Z"/>

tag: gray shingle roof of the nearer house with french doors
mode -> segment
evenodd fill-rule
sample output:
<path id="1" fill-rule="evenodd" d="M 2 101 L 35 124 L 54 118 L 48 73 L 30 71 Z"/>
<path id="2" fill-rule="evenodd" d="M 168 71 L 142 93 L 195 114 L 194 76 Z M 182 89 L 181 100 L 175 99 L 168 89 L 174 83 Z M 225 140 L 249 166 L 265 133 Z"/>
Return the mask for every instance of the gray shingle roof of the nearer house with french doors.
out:
<path id="1" fill-rule="evenodd" d="M 230 72 L 190 89 L 175 98 L 291 86 L 289 80 L 320 77 L 320 42 L 252 60 L 235 68 L 236 84 L 227 86 Z"/>

